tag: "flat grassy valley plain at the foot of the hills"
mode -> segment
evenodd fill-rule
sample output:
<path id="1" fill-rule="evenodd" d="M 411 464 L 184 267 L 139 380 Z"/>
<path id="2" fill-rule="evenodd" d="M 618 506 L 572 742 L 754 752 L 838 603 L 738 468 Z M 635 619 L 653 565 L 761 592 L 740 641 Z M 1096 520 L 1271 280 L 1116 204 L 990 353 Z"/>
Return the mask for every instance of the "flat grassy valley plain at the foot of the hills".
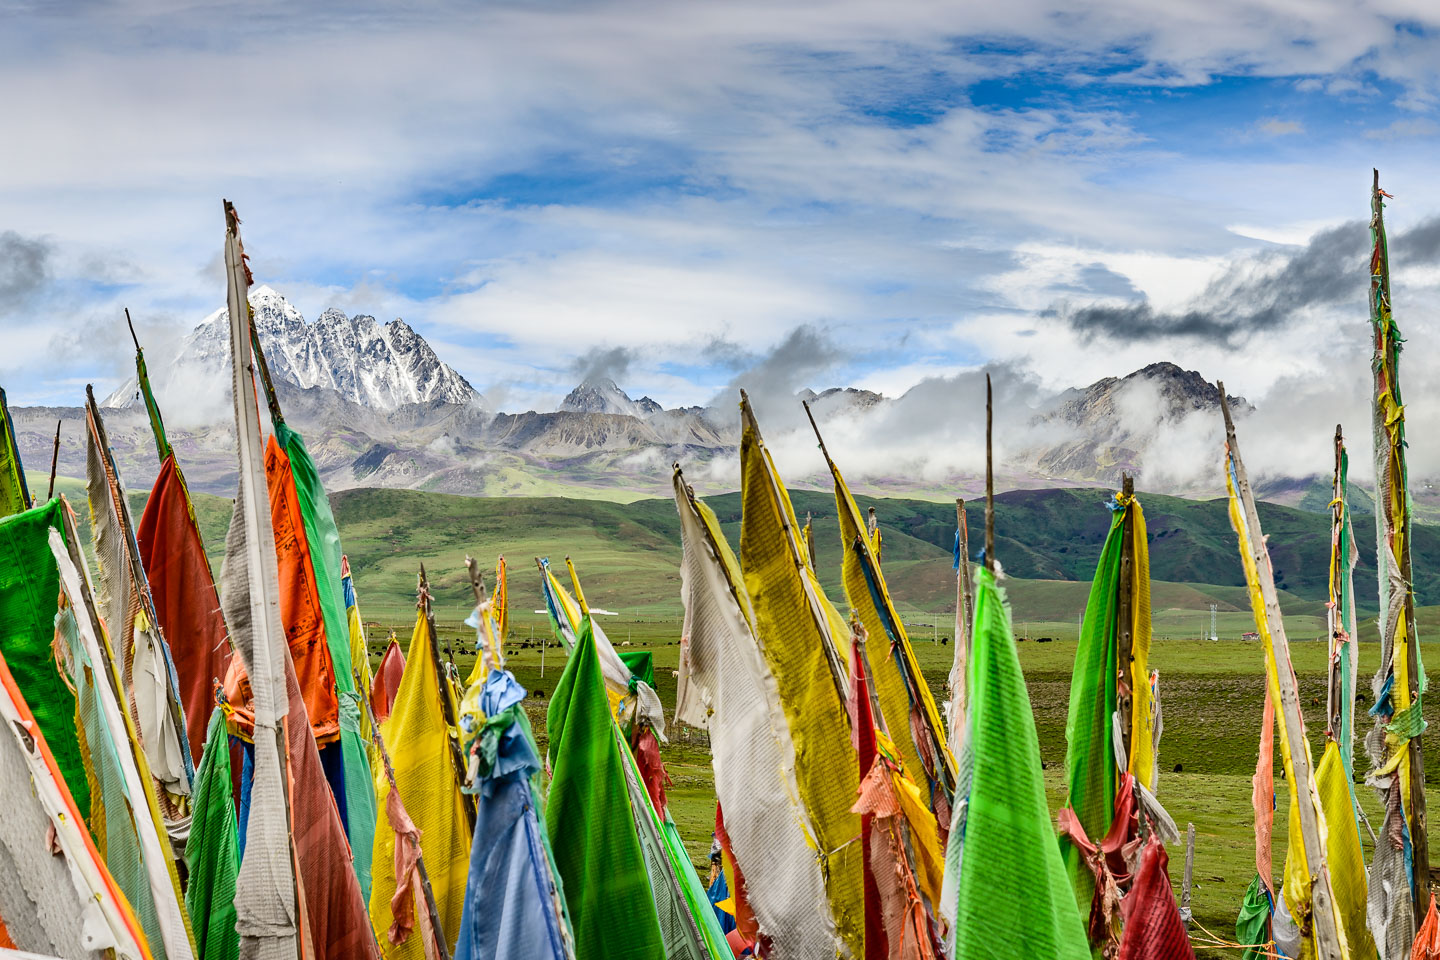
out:
<path id="1" fill-rule="evenodd" d="M 402 646 L 408 645 L 409 626 L 399 620 L 396 626 L 400 628 L 397 632 Z M 667 710 L 672 710 L 680 623 L 625 623 L 606 617 L 603 626 L 616 645 L 629 642 L 635 648 L 654 652 L 660 695 Z M 541 676 L 539 640 L 536 646 L 526 646 L 531 628 L 536 638 L 549 636 L 549 625 L 543 617 L 518 616 L 507 640 L 507 658 L 516 676 L 531 691 L 528 712 L 543 750 L 544 711 L 549 695 L 564 669 L 564 653 L 552 642 L 544 651 Z M 468 630 L 458 622 L 445 620 L 441 620 L 439 629 L 442 639 L 452 645 L 456 665 L 462 672 L 468 672 L 472 655 L 462 652 L 468 645 L 461 642 Z M 373 658 L 379 658 L 383 652 L 387 633 L 386 628 L 372 628 Z M 914 649 L 932 691 L 942 699 L 950 666 L 950 648 L 916 642 Z M 1433 662 L 1440 662 L 1440 643 L 1433 649 L 1436 649 Z M 1368 675 L 1374 671 L 1377 651 L 1378 648 L 1372 645 L 1364 645 L 1361 649 L 1362 694 L 1368 691 Z M 1031 692 L 1050 806 L 1058 809 L 1064 802 L 1064 725 L 1070 697 L 1070 666 L 1074 658 L 1073 628 L 1070 639 L 1020 643 L 1020 656 Z M 1323 712 L 1325 649 L 1316 642 L 1296 640 L 1293 658 L 1300 681 L 1302 704 L 1310 718 L 1312 753 L 1319 757 L 1323 730 L 1318 718 Z M 1198 924 L 1192 936 L 1197 938 L 1197 956 L 1233 957 L 1234 950 L 1201 948 L 1200 938 L 1204 936 L 1201 933 L 1204 928 L 1227 941 L 1234 940 L 1236 911 L 1254 877 L 1250 776 L 1256 764 L 1260 712 L 1264 702 L 1261 651 L 1254 642 L 1158 639 L 1151 652 L 1151 665 L 1161 672 L 1165 720 L 1159 756 L 1159 797 L 1182 832 L 1187 822 L 1195 825 L 1192 905 Z M 1368 694 L 1364 699 L 1368 701 Z M 1364 708 L 1356 712 L 1359 714 L 1356 734 L 1364 735 L 1368 730 L 1368 717 Z M 670 787 L 671 810 L 691 856 L 703 872 L 714 828 L 708 740 L 703 731 L 683 725 L 671 725 L 670 740 L 664 747 L 664 756 L 674 780 Z M 1368 764 L 1358 756 L 1356 766 L 1364 769 Z M 1427 751 L 1427 769 L 1430 782 L 1440 782 L 1440 747 Z M 1273 862 L 1279 872 L 1284 864 L 1284 825 L 1289 809 L 1284 780 L 1279 776 L 1279 759 L 1276 771 L 1279 797 Z M 1356 792 L 1369 822 L 1378 825 L 1380 806 L 1374 792 L 1362 784 L 1356 786 Z M 1440 803 L 1440 792 L 1431 793 L 1431 803 Z M 1368 835 L 1362 839 L 1368 859 L 1371 841 Z M 1431 849 L 1440 849 L 1440 830 L 1434 828 L 1431 828 Z M 1169 853 L 1171 879 L 1179 895 L 1184 846 L 1175 846 Z"/>

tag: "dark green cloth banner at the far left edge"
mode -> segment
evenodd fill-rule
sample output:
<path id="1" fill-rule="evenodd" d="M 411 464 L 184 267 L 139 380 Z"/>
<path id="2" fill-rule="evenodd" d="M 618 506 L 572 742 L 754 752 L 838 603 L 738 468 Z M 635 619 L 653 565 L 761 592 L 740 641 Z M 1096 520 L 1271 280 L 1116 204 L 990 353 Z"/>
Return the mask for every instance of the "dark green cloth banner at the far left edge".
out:
<path id="1" fill-rule="evenodd" d="M 75 694 L 55 664 L 55 612 L 60 571 L 50 554 L 50 527 L 65 534 L 59 498 L 0 518 L 0 653 L 4 653 L 55 763 L 89 818 L 89 780 L 75 728 Z"/>

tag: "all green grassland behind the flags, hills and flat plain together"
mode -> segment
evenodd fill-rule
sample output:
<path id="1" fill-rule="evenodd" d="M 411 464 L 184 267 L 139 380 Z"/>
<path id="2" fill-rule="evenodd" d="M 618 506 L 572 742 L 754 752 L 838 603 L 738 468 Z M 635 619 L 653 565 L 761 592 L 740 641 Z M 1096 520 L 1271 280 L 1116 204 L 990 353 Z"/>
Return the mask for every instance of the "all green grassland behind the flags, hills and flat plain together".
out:
<path id="1" fill-rule="evenodd" d="M 62 485 L 62 489 L 82 498 L 76 486 Z M 809 491 L 795 491 L 793 499 L 801 518 L 814 515 L 822 586 L 844 607 L 834 499 Z M 1017 636 L 1030 638 L 1018 649 L 1053 807 L 1064 799 L 1064 721 L 1077 616 L 1110 522 L 1103 499 L 1094 489 L 1017 491 L 996 498 L 996 556 L 1008 573 L 1005 586 Z M 132 495 L 131 502 L 138 518 L 144 495 Z M 464 557 L 477 556 L 488 567 L 504 553 L 511 569 L 510 666 L 531 691 L 527 705 L 537 737 L 544 741 L 544 707 L 563 671 L 564 653 L 553 643 L 549 648 L 539 643 L 549 638 L 550 628 L 544 616 L 534 613 L 540 593 L 533 558 L 549 556 L 560 564 L 570 556 L 590 603 L 618 612 L 600 617 L 611 639 L 654 651 L 661 698 L 667 707 L 674 704 L 681 609 L 678 521 L 670 501 L 619 504 L 353 489 L 333 495 L 331 502 L 374 658 L 392 630 L 408 645 L 415 623 L 416 571 L 423 563 L 435 593 L 442 642 L 461 669 L 468 671 L 472 635 L 461 623 L 469 597 Z M 707 502 L 726 535 L 736 541 L 739 497 L 727 494 Z M 1159 796 L 1182 828 L 1195 823 L 1195 915 L 1204 927 L 1228 937 L 1240 898 L 1254 875 L 1250 774 L 1264 697 L 1263 656 L 1257 643 L 1238 639 L 1253 629 L 1253 620 L 1224 504 L 1165 497 L 1143 497 L 1143 502 L 1155 577 L 1151 664 L 1161 674 L 1165 717 Z M 937 699 L 943 699 L 953 653 L 948 642 L 955 609 L 953 504 L 861 498 L 863 508 L 870 505 L 877 507 L 884 530 L 884 567 L 891 592 L 924 678 Z M 968 507 L 972 531 L 982 528 L 975 507 Z M 216 567 L 229 510 L 223 498 L 196 497 L 196 514 Z M 1323 737 L 1315 718 L 1323 712 L 1325 695 L 1325 645 L 1319 638 L 1325 633 L 1328 518 L 1270 504 L 1260 511 L 1282 584 L 1282 607 L 1302 702 L 1312 717 L 1312 753 L 1318 759 Z M 84 521 L 84 508 L 78 507 L 78 512 Z M 1361 554 L 1356 593 L 1369 597 L 1374 596 L 1374 530 L 1365 518 L 1358 518 L 1356 525 Z M 1434 604 L 1418 609 L 1420 635 L 1440 636 L 1440 531 L 1417 527 L 1416 569 L 1421 571 L 1420 600 Z M 1210 632 L 1211 604 L 1217 610 L 1218 642 L 1202 639 Z M 1362 615 L 1361 639 L 1367 642 L 1361 645 L 1361 674 L 1367 676 L 1377 666 L 1378 645 L 1368 642 L 1375 636 L 1374 612 Z M 1424 649 L 1431 659 L 1440 658 L 1440 646 L 1426 643 Z M 1362 681 L 1362 692 L 1368 702 L 1368 681 Z M 1358 730 L 1364 733 L 1368 718 L 1364 710 L 1358 712 Z M 714 822 L 708 740 L 703 731 L 674 725 L 664 754 L 674 780 L 672 813 L 700 862 L 708 851 Z M 1356 766 L 1368 764 L 1358 759 Z M 1427 774 L 1437 782 L 1440 748 L 1428 751 Z M 1274 841 L 1279 871 L 1284 858 L 1287 793 L 1283 780 L 1277 784 L 1282 786 Z M 1372 792 L 1358 786 L 1356 793 L 1371 823 L 1378 825 Z M 1367 835 L 1367 848 L 1369 843 Z M 1440 835 L 1433 836 L 1433 843 L 1440 843 Z M 1176 885 L 1182 855 L 1172 851 L 1171 874 Z M 1233 954 L 1233 950 L 1200 951 L 1215 957 Z"/>

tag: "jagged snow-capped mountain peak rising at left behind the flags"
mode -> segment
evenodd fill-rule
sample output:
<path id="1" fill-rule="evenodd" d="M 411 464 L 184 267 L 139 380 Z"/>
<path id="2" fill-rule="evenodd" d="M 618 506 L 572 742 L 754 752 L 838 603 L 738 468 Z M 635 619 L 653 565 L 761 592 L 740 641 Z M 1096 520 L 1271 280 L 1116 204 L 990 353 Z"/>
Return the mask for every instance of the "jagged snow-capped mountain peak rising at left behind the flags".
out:
<path id="1" fill-rule="evenodd" d="M 252 289 L 249 299 L 265 360 L 278 381 L 334 390 L 351 403 L 386 412 L 408 403 L 480 400 L 465 377 L 441 361 L 403 320 L 382 325 L 374 317 L 347 317 L 331 307 L 305 322 L 289 301 L 264 285 Z M 229 311 L 220 308 L 181 341 L 174 366 L 220 376 L 229 360 Z M 135 390 L 135 381 L 127 381 L 105 406 L 130 406 Z"/>

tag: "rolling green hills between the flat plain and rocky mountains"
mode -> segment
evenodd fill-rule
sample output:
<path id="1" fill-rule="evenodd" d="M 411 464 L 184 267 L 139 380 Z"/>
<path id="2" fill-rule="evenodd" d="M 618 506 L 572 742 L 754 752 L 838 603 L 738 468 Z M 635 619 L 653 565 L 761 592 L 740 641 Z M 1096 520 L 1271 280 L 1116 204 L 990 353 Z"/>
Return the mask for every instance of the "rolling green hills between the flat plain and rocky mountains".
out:
<path id="1" fill-rule="evenodd" d="M 841 596 L 841 543 L 828 494 L 795 491 L 801 517 L 814 515 L 821 580 Z M 1096 491 L 1012 491 L 995 498 L 996 556 L 1011 577 L 1017 619 L 1073 620 L 1109 530 Z M 680 524 L 668 499 L 631 504 L 543 498 L 475 498 L 406 489 L 350 489 L 331 498 L 356 583 L 369 603 L 408 606 L 415 571 L 425 563 L 438 596 L 467 594 L 467 553 L 491 563 L 505 553 L 521 583 L 533 557 L 572 556 L 586 589 L 636 616 L 678 615 Z M 223 502 L 223 501 L 222 501 Z M 739 541 L 740 497 L 707 498 L 732 544 Z M 1224 501 L 1145 497 L 1151 574 L 1158 610 L 1247 610 L 1234 533 Z M 874 505 L 884 531 L 886 574 L 910 615 L 953 610 L 953 505 L 860 498 Z M 984 528 L 984 505 L 968 504 L 969 528 Z M 1261 504 L 1277 586 L 1286 610 L 1319 616 L 1328 583 L 1329 524 L 1319 514 Z M 204 522 L 204 521 L 202 521 Z M 1374 580 L 1374 530 L 1356 528 L 1359 596 Z M 1416 528 L 1417 594 L 1440 603 L 1440 531 Z M 1043 583 L 1030 583 L 1043 581 Z M 1246 616 L 1248 616 L 1246 613 Z"/>

